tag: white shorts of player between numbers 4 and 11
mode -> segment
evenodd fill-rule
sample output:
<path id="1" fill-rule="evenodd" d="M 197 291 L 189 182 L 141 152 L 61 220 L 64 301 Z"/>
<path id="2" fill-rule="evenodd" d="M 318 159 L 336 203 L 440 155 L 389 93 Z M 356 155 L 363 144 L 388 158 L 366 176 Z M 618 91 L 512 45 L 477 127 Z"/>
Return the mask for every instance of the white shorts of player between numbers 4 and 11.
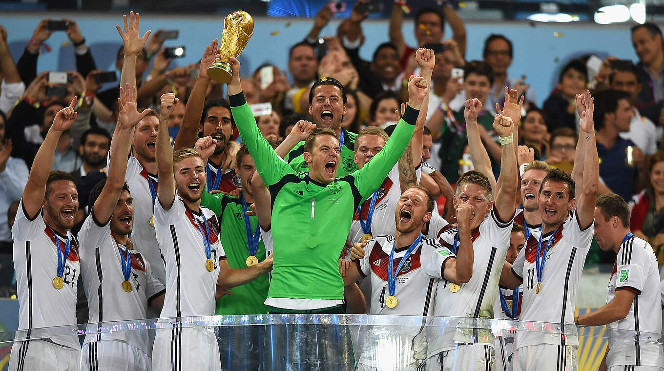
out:
<path id="1" fill-rule="evenodd" d="M 495 371 L 493 344 L 457 344 L 426 360 L 426 371 Z"/>

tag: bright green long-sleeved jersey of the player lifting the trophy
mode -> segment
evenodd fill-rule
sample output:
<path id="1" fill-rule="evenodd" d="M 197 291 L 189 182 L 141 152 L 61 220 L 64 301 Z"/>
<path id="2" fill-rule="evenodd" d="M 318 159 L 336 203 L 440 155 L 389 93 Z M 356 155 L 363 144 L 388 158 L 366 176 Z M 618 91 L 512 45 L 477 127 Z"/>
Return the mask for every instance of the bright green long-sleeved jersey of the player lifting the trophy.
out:
<path id="1" fill-rule="evenodd" d="M 244 94 L 228 98 L 240 137 L 272 196 L 274 271 L 268 297 L 343 300 L 339 256 L 353 213 L 401 157 L 419 111 L 406 109 L 385 147 L 362 169 L 325 185 L 277 155 L 258 130 Z"/>

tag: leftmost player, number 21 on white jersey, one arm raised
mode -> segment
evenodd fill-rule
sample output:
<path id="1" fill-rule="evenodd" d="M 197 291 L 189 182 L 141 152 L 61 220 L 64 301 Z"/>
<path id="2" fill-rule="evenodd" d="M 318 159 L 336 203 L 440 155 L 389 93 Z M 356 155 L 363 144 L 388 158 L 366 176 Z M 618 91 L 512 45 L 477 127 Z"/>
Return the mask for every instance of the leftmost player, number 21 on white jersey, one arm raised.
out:
<path id="1" fill-rule="evenodd" d="M 19 330 L 10 370 L 78 370 L 80 344 L 72 330 L 80 267 L 70 232 L 78 192 L 68 173 L 49 173 L 60 135 L 76 120 L 75 106 L 76 97 L 56 113 L 35 156 L 12 228 Z M 58 326 L 66 329 L 52 329 Z"/>

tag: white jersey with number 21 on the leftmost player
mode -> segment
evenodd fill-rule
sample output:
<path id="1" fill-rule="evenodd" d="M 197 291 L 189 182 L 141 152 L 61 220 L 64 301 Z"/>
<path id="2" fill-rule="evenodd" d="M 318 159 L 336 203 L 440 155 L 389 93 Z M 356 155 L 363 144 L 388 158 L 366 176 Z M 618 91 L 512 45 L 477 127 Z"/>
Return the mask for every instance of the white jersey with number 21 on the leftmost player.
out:
<path id="1" fill-rule="evenodd" d="M 55 344 L 80 350 L 75 333 L 59 336 L 63 329 L 47 329 L 54 326 L 76 327 L 76 282 L 80 264 L 74 236 L 70 231 L 67 231 L 67 236 L 54 233 L 44 223 L 42 214 L 31 220 L 25 213 L 23 200 L 19 204 L 11 235 L 14 239 L 14 269 L 19 297 L 16 339 L 49 337 Z M 59 290 L 53 287 L 53 279 L 58 275 L 56 238 L 60 242 L 59 254 L 64 263 L 64 285 Z M 67 238 L 71 248 L 65 259 Z"/>

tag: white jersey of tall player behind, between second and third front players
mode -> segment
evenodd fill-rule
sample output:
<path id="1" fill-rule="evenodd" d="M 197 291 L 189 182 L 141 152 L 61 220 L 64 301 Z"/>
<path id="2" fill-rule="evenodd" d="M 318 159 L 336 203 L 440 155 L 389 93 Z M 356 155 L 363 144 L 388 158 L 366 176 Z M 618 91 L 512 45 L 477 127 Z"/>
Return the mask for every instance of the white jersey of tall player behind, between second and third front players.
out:
<path id="1" fill-rule="evenodd" d="M 110 161 L 110 159 L 109 159 Z M 155 227 L 150 224 L 154 203 L 150 183 L 157 194 L 157 175 L 148 174 L 136 157 L 129 156 L 125 181 L 133 198 L 133 231 L 131 242 L 152 267 L 153 274 L 161 283 L 166 283 L 166 268 L 159 253 Z M 150 182 L 150 183 L 148 183 Z M 156 202 L 156 201 L 155 201 Z"/>

